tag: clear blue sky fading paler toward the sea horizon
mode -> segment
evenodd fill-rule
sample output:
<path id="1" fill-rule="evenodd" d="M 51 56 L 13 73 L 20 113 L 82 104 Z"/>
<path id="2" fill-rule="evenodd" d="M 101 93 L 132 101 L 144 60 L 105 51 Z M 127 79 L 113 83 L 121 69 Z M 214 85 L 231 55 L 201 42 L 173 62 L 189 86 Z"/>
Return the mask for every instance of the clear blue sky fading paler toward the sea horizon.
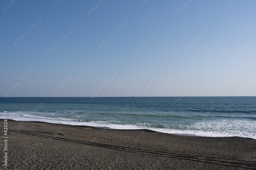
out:
<path id="1" fill-rule="evenodd" d="M 254 0 L 0 7 L 2 97 L 256 96 Z"/>

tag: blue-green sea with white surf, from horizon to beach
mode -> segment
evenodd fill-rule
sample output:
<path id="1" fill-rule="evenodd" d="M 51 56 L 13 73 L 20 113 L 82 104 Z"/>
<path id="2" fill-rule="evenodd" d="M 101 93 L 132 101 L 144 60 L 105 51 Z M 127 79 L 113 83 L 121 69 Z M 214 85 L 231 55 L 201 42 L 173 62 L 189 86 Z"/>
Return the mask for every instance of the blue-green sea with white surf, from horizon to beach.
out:
<path id="1" fill-rule="evenodd" d="M 256 97 L 9 97 L 0 118 L 256 139 Z"/>

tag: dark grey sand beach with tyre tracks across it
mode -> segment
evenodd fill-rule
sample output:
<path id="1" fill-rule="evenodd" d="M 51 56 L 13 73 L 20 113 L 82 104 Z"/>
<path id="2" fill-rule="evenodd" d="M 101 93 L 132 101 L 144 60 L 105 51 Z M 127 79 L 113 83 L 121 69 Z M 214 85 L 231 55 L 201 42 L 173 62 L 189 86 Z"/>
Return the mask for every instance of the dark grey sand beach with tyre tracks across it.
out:
<path id="1" fill-rule="evenodd" d="M 251 138 L 13 120 L 8 136 L 8 167 L 0 169 L 256 169 Z"/>

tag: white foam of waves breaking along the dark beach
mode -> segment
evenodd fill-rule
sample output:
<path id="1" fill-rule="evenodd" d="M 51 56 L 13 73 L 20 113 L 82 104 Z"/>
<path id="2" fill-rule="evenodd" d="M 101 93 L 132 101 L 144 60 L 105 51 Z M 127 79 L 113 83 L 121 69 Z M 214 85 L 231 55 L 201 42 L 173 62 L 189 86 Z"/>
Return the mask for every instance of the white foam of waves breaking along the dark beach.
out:
<path id="1" fill-rule="evenodd" d="M 187 129 L 171 129 L 145 126 L 148 125 L 148 123 L 136 123 L 134 125 L 128 125 L 110 123 L 109 121 L 82 122 L 76 119 L 67 119 L 62 117 L 40 117 L 38 115 L 31 114 L 31 112 L 30 114 L 24 114 L 24 112 L 10 113 L 8 118 L 17 121 L 41 121 L 69 125 L 108 127 L 111 129 L 150 129 L 169 134 L 196 135 L 206 137 L 239 136 L 256 139 L 256 122 L 246 120 L 233 120 L 233 122 L 230 120 L 216 120 L 210 122 L 201 121 L 194 125 L 187 126 Z M 241 130 L 241 128 L 243 129 Z"/>

